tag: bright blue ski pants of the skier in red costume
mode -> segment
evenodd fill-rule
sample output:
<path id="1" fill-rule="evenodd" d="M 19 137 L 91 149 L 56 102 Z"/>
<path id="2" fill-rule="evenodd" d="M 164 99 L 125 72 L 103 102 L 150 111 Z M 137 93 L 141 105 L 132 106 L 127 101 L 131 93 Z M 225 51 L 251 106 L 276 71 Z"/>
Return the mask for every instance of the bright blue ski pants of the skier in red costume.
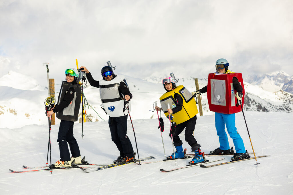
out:
<path id="1" fill-rule="evenodd" d="M 235 114 L 222 114 L 215 112 L 215 124 L 217 129 L 217 135 L 219 136 L 221 150 L 230 149 L 228 136 L 225 131 L 226 124 L 229 136 L 233 139 L 236 153 L 245 153 L 243 140 L 237 132 L 237 128 L 235 126 Z"/>

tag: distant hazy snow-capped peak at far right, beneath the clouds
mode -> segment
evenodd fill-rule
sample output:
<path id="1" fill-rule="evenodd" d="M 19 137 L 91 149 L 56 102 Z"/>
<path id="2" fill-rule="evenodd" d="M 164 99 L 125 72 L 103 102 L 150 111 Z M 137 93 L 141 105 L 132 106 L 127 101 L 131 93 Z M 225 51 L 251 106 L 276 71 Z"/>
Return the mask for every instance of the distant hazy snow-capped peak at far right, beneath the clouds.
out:
<path id="1" fill-rule="evenodd" d="M 284 71 L 276 71 L 270 74 L 248 76 L 246 82 L 258 85 L 264 90 L 276 92 L 282 89 L 293 94 L 293 76 L 289 76 Z"/>

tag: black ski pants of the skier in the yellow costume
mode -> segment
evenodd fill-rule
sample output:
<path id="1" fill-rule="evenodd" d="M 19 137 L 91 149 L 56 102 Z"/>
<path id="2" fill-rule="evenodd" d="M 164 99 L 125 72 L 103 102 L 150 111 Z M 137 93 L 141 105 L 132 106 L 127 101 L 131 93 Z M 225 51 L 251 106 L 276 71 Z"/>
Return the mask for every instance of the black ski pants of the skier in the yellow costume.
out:
<path id="1" fill-rule="evenodd" d="M 175 132 L 173 133 L 173 143 L 174 146 L 181 146 L 183 143 L 179 138 L 179 134 L 183 131 L 185 128 L 185 141 L 191 146 L 191 151 L 197 150 L 200 148 L 200 144 L 197 143 L 196 139 L 193 136 L 193 131 L 195 129 L 195 123 L 196 123 L 196 115 L 189 119 L 188 121 L 185 121 L 183 123 L 177 124 L 175 127 Z M 173 124 L 172 124 L 173 125 Z M 169 134 L 171 137 L 171 132 Z"/>

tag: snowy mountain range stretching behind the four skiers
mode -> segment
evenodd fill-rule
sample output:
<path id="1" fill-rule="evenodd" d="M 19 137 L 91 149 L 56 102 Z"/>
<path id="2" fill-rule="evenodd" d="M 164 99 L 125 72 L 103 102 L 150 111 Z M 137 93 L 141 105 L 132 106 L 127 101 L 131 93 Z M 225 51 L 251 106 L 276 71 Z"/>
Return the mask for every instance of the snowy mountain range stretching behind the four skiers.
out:
<path id="1" fill-rule="evenodd" d="M 274 73 L 275 77 L 272 75 L 268 83 L 264 82 L 265 79 L 258 79 L 259 82 L 255 80 L 255 84 L 244 82 L 246 91 L 243 106 L 244 110 L 293 112 L 293 95 L 281 89 L 281 85 L 286 86 L 287 89 L 293 88 L 292 79 L 291 84 L 287 82 L 285 85 L 284 83 L 282 84 L 282 82 L 285 82 L 286 79 L 289 81 L 290 78 L 286 73 Z M 99 74 L 93 75 L 93 77 L 96 80 L 101 79 Z M 155 101 L 158 106 L 160 106 L 159 98 L 166 92 L 162 86 L 161 78 L 145 78 L 144 80 L 130 76 L 125 76 L 125 78 L 130 92 L 134 97 L 131 101 L 130 114 L 132 119 L 157 117 L 156 112 L 151 112 L 149 110 L 153 109 Z M 176 79 L 179 79 L 177 86 L 184 85 L 190 91 L 196 90 L 195 81 L 192 76 Z M 57 79 L 55 79 L 55 81 L 56 80 Z M 207 77 L 199 78 L 198 82 L 199 88 L 204 87 L 207 85 Z M 59 95 L 60 84 L 61 83 L 55 82 L 56 98 Z M 272 86 L 274 86 L 277 91 L 271 92 L 264 90 L 264 88 L 270 88 Z M 17 128 L 28 124 L 47 124 L 48 120 L 45 116 L 45 107 L 43 106 L 44 100 L 48 95 L 47 87 L 40 86 L 37 81 L 29 76 L 9 71 L 8 74 L 0 78 L 0 90 L 0 128 Z M 108 120 L 108 115 L 106 115 L 100 107 L 99 89 L 88 84 L 88 87 L 84 88 L 84 95 L 86 104 L 90 105 L 86 107 L 86 118 L 94 122 Z M 214 112 L 209 111 L 207 94 L 204 93 L 201 97 L 203 114 L 214 114 Z M 81 122 L 81 116 L 79 119 Z M 59 124 L 59 120 L 56 120 L 56 124 Z"/>

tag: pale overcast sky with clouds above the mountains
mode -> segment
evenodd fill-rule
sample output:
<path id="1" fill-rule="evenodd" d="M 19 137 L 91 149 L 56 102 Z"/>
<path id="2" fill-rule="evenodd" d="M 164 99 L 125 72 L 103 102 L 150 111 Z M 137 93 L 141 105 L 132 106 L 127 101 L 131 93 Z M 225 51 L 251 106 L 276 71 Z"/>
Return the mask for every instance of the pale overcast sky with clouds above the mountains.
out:
<path id="1" fill-rule="evenodd" d="M 99 80 L 106 61 L 132 77 L 207 77 L 229 69 L 293 75 L 293 1 L 0 1 L 0 76 L 9 70 L 44 85 L 86 66 Z M 62 77 L 62 78 L 60 78 Z"/>

